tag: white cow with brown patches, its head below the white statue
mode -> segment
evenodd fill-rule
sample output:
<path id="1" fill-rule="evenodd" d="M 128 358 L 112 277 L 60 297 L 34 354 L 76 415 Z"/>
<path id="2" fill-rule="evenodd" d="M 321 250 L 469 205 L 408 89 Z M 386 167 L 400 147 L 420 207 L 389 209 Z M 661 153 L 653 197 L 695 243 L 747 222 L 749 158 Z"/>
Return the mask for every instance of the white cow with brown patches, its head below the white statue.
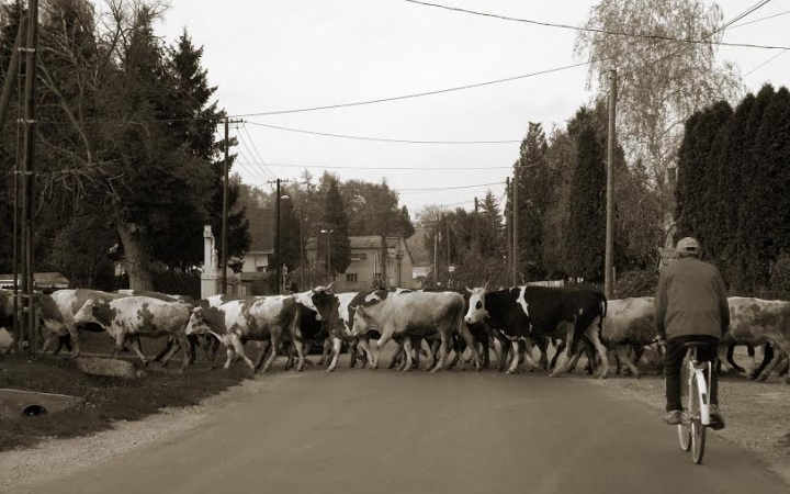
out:
<path id="1" fill-rule="evenodd" d="M 187 326 L 187 335 L 208 334 L 216 336 L 227 348 L 225 369 L 230 367 L 238 353 L 252 373 L 263 361 L 261 348 L 253 364 L 244 350 L 248 340 L 270 341 L 271 352 L 263 372 L 271 368 L 281 343 L 293 343 L 298 355 L 297 371 L 304 369 L 304 348 L 300 333 L 300 305 L 293 295 L 251 296 L 234 300 L 216 307 L 194 307 Z"/>

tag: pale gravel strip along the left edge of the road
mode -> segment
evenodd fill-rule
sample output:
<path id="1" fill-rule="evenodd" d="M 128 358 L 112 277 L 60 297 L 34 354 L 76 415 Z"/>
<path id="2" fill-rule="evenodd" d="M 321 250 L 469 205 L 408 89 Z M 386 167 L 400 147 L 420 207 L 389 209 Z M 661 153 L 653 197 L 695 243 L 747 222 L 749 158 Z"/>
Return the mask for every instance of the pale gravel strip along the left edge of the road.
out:
<path id="1" fill-rule="evenodd" d="M 198 406 L 162 408 L 142 420 L 119 420 L 114 428 L 91 436 L 53 438 L 31 449 L 0 452 L 0 491 L 23 483 L 63 478 L 195 427 L 217 409 L 246 395 L 259 393 L 273 379 L 276 377 L 245 380 L 238 386 L 207 397 Z"/>

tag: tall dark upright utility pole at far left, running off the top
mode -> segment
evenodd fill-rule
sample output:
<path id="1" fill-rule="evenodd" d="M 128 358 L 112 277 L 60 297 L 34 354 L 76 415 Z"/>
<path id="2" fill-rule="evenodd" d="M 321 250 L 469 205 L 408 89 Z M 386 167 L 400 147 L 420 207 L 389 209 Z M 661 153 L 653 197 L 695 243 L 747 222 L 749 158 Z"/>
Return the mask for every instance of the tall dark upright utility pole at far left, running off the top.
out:
<path id="1" fill-rule="evenodd" d="M 27 2 L 27 42 L 25 47 L 25 93 L 24 93 L 24 159 L 22 161 L 22 307 L 24 317 L 22 323 L 23 351 L 35 353 L 36 317 L 35 301 L 33 299 L 33 172 L 34 137 L 35 137 L 35 78 L 36 78 L 36 42 L 38 31 L 38 0 Z M 33 348 L 30 348 L 30 343 Z"/>

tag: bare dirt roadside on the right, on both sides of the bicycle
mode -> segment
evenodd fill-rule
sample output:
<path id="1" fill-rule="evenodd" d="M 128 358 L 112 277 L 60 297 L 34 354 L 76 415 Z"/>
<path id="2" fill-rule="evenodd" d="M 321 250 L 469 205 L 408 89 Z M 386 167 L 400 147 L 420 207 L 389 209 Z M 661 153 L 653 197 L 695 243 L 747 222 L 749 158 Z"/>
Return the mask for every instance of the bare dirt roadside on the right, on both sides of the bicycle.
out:
<path id="1" fill-rule="evenodd" d="M 616 394 L 627 394 L 664 411 L 664 380 L 609 378 L 590 383 Z M 723 377 L 719 381 L 719 403 L 726 427 L 710 434 L 754 452 L 771 471 L 790 484 L 790 385 L 781 378 L 766 383 Z"/>

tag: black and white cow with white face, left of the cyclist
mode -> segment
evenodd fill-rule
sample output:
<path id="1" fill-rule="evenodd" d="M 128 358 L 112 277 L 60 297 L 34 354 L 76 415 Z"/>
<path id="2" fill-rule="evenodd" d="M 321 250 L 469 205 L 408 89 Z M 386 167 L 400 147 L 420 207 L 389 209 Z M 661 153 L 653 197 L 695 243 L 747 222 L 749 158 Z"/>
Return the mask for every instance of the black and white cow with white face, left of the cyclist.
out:
<path id="1" fill-rule="evenodd" d="M 564 326 L 566 350 L 550 375 L 556 377 L 566 370 L 582 338 L 587 337 L 595 345 L 601 360 L 600 378 L 607 377 L 609 361 L 607 350 L 600 340 L 600 330 L 607 311 L 607 300 L 602 293 L 546 287 L 516 287 L 493 292 L 488 292 L 485 288 L 476 288 L 469 291 L 471 296 L 465 316 L 466 323 L 486 321 L 512 343 L 516 356 L 520 339 L 551 336 L 557 327 Z M 538 368 L 532 360 L 529 345 L 527 350 L 524 353 L 527 363 Z M 515 372 L 518 363 L 519 359 L 514 358 L 507 372 Z"/>

